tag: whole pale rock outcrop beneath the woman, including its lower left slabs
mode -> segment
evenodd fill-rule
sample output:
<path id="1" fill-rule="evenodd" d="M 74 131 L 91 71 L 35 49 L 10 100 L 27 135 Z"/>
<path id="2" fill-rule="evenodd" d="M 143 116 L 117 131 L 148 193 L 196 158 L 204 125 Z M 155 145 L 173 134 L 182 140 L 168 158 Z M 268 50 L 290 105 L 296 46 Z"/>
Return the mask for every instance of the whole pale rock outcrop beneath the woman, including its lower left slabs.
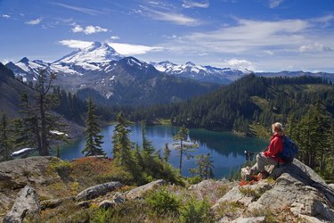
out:
<path id="1" fill-rule="evenodd" d="M 245 212 L 288 209 L 305 220 L 308 216 L 334 221 L 334 190 L 313 169 L 295 159 L 273 169 L 271 177 L 276 180 L 261 180 L 252 186 L 235 186 L 216 202 L 213 209 L 216 210 L 224 202 L 239 202 Z"/>

